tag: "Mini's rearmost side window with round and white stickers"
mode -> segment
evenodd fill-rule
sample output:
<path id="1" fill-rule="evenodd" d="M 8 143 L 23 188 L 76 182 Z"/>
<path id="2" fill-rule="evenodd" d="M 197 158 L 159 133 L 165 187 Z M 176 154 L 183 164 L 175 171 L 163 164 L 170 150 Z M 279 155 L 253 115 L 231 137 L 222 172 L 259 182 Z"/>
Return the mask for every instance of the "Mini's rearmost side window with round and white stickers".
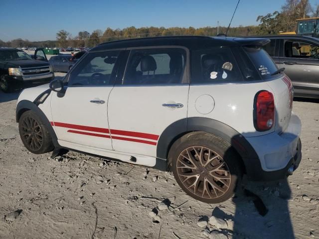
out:
<path id="1" fill-rule="evenodd" d="M 191 84 L 218 84 L 243 81 L 229 48 L 192 51 Z"/>

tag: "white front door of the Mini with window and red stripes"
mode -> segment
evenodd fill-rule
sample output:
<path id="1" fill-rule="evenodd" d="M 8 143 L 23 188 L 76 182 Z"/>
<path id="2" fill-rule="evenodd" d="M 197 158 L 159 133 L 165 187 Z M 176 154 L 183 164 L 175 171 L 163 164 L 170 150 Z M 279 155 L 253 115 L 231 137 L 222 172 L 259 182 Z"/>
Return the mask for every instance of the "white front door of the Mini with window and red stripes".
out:
<path id="1" fill-rule="evenodd" d="M 112 150 L 107 108 L 119 54 L 90 52 L 64 79 L 65 94 L 51 93 L 52 125 L 61 146 Z"/>

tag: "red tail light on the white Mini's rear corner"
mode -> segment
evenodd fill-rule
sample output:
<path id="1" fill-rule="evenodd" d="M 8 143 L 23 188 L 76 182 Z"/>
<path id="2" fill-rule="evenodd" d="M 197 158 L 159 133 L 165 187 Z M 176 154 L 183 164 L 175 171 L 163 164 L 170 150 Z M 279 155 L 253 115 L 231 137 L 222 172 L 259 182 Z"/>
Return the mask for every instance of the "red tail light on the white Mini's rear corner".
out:
<path id="1" fill-rule="evenodd" d="M 272 128 L 275 121 L 274 95 L 269 91 L 260 91 L 254 101 L 254 125 L 257 131 Z"/>

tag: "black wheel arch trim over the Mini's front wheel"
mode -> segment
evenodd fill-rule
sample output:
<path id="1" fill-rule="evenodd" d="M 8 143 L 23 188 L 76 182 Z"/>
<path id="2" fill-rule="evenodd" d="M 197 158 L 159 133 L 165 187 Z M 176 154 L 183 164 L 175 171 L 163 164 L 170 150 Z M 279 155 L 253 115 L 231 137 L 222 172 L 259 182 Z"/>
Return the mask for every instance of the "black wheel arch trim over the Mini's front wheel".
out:
<path id="1" fill-rule="evenodd" d="M 53 130 L 53 127 L 52 127 L 50 121 L 47 119 L 47 117 L 44 115 L 44 113 L 40 110 L 40 108 L 37 107 L 33 102 L 27 101 L 27 100 L 22 100 L 22 101 L 20 101 L 17 104 L 16 110 L 15 110 L 15 120 L 16 120 L 16 122 L 19 122 L 19 119 L 20 119 L 21 115 L 25 111 L 29 111 L 29 110 L 34 111 L 40 117 L 42 122 L 45 124 L 45 126 L 47 127 L 47 129 L 48 129 L 48 131 L 50 133 L 50 136 L 51 136 L 52 143 L 53 143 L 54 147 L 61 148 L 61 146 L 58 144 L 58 140 L 57 140 L 56 134 L 55 134 L 55 132 Z"/>

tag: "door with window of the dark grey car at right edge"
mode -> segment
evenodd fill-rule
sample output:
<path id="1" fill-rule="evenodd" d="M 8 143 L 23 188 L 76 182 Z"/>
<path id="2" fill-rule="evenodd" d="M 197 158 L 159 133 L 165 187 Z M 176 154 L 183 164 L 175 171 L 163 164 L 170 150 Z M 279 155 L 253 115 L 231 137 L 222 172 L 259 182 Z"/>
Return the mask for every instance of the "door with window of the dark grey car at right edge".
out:
<path id="1" fill-rule="evenodd" d="M 279 68 L 292 80 L 295 92 L 306 93 L 319 89 L 319 44 L 305 40 L 281 40 L 280 57 L 275 59 Z"/>

